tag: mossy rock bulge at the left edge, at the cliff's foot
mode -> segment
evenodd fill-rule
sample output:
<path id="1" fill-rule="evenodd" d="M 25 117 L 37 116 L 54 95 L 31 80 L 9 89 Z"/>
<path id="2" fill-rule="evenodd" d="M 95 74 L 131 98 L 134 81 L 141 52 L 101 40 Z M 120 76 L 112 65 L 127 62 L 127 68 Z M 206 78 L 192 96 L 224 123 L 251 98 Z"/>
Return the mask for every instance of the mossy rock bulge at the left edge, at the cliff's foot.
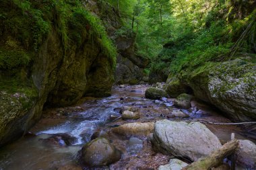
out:
<path id="1" fill-rule="evenodd" d="M 19 138 L 29 127 L 38 94 L 33 88 L 24 91 L 0 91 L 0 146 Z"/>

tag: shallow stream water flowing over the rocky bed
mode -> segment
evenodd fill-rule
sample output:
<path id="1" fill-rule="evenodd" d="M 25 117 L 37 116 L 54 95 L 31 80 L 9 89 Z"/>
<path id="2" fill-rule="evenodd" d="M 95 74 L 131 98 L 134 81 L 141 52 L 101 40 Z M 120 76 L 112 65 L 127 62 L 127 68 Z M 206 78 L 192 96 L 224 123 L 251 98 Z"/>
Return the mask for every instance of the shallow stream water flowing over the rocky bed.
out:
<path id="1" fill-rule="evenodd" d="M 146 87 L 147 85 L 116 86 L 113 87 L 111 97 L 87 97 L 73 107 L 45 110 L 42 120 L 29 134 L 0 148 L 0 170 L 51 170 L 64 165 L 79 165 L 77 153 L 83 144 L 90 141 L 94 132 L 108 132 L 112 127 L 127 122 L 155 122 L 166 118 L 172 110 L 177 110 L 172 106 L 171 99 L 145 99 Z M 197 101 L 193 101 L 192 105 L 192 109 L 183 110 L 189 115 L 186 120 L 200 118 L 214 122 L 230 122 L 210 106 Z M 123 106 L 137 108 L 141 118 L 118 119 L 121 116 L 120 108 Z M 236 133 L 236 138 L 244 139 L 239 135 L 241 129 L 236 126 L 207 127 L 223 142 L 230 140 L 232 132 Z M 154 153 L 146 136 L 137 136 L 143 141 L 141 144 L 129 144 L 131 136 L 118 136 L 111 132 L 109 134 L 113 144 L 123 153 L 121 160 L 110 165 L 110 169 L 156 169 L 159 165 L 168 163 L 170 159 L 169 156 Z M 65 144 L 67 141 L 68 145 Z"/>

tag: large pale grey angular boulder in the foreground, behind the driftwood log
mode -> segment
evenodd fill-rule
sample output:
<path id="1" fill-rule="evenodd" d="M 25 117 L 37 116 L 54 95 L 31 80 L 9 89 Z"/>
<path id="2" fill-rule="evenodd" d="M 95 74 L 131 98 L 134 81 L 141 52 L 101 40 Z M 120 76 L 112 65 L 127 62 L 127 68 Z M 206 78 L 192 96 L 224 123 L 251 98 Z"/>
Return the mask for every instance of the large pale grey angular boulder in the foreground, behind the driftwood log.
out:
<path id="1" fill-rule="evenodd" d="M 161 153 L 187 157 L 191 161 L 197 161 L 222 146 L 217 136 L 199 122 L 160 120 L 154 125 L 150 141 Z"/>

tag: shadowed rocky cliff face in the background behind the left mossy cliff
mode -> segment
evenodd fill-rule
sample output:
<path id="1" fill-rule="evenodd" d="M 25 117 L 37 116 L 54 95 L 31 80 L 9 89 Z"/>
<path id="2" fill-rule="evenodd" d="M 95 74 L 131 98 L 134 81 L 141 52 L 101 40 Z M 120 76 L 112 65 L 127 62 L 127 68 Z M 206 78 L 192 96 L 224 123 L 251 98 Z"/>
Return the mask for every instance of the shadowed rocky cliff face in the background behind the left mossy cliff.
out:
<path id="1" fill-rule="evenodd" d="M 104 22 L 108 35 L 117 45 L 119 55 L 117 56 L 117 68 L 115 71 L 115 83 L 136 84 L 141 81 L 148 81 L 144 69 L 150 60 L 145 56 L 136 54 L 135 38 L 133 32 L 117 35 L 116 32 L 123 24 L 119 12 L 102 1 L 87 1 L 86 7 L 95 15 L 98 15 Z"/>

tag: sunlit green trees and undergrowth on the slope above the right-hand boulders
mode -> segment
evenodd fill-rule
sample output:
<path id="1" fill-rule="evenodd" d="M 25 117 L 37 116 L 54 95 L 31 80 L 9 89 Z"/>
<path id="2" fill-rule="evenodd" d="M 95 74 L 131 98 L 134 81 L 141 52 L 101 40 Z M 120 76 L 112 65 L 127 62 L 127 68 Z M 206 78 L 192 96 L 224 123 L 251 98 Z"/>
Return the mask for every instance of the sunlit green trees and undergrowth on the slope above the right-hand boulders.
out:
<path id="1" fill-rule="evenodd" d="M 136 33 L 137 52 L 152 59 L 153 72 L 256 52 L 253 0 L 107 1 L 123 19 L 118 33 Z"/>

